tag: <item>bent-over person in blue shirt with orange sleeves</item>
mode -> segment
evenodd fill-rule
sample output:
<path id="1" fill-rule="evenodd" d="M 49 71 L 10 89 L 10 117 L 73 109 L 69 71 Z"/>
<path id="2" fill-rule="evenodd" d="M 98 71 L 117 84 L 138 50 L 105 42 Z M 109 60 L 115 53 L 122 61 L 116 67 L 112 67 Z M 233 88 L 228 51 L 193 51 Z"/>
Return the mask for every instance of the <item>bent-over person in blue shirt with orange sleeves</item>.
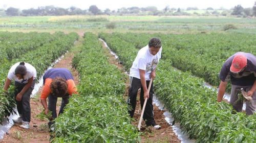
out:
<path id="1" fill-rule="evenodd" d="M 45 108 L 45 114 L 49 111 L 52 113 L 49 128 L 57 117 L 56 103 L 57 98 L 62 98 L 59 114 L 63 112 L 63 108 L 69 103 L 69 98 L 73 93 L 77 93 L 74 78 L 70 71 L 66 68 L 51 68 L 46 71 L 43 77 L 44 87 L 41 92 L 41 104 Z M 48 97 L 48 107 L 46 99 Z"/>

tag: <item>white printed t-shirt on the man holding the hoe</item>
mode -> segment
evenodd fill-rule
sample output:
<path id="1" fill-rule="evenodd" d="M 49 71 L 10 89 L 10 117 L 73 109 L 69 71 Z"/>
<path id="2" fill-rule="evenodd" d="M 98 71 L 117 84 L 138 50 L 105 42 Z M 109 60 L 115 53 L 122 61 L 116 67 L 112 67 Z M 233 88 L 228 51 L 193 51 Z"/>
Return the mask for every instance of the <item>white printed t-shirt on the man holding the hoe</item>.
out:
<path id="1" fill-rule="evenodd" d="M 150 53 L 148 45 L 142 47 L 139 50 L 133 65 L 130 69 L 130 77 L 135 77 L 140 79 L 139 69 L 145 70 L 145 79 L 150 80 L 150 74 L 153 69 L 156 68 L 160 58 L 161 58 L 162 47 L 156 55 Z"/>

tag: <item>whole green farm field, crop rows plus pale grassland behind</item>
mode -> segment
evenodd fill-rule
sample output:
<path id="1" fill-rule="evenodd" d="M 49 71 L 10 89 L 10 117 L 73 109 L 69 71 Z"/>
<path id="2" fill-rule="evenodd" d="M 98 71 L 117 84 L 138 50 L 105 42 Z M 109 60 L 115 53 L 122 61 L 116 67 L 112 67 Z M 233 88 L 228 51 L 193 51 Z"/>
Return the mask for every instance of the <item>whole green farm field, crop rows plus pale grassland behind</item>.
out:
<path id="1" fill-rule="evenodd" d="M 75 47 L 78 52 L 72 59 L 79 73 L 79 94 L 56 119 L 50 140 L 150 142 L 127 114 L 127 75 L 109 63 L 98 38 L 129 71 L 139 49 L 150 38 L 159 37 L 163 52 L 154 83 L 156 95 L 189 138 L 196 142 L 254 142 L 256 115 L 231 114 L 231 106 L 217 103 L 217 91 L 204 83 L 219 85 L 219 71 L 232 54 L 256 55 L 255 23 L 255 18 L 233 17 L 0 17 L 0 80 L 6 79 L 10 66 L 18 61 L 34 65 L 39 78 L 54 60 L 74 49 L 79 39 L 82 44 Z M 113 29 L 108 28 L 110 24 Z M 224 30 L 228 25 L 236 29 Z M 12 92 L 0 91 L 0 121 L 14 110 Z"/>

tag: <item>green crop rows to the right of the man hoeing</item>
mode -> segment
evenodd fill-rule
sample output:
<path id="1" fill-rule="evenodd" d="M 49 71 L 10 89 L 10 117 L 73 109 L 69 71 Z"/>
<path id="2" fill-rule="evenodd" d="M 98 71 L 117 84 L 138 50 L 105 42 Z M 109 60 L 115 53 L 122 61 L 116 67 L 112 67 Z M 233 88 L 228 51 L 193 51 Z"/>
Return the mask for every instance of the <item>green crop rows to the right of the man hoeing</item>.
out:
<path id="1" fill-rule="evenodd" d="M 139 47 L 151 37 L 161 38 L 163 58 L 155 80 L 157 97 L 190 138 L 197 142 L 256 140 L 256 115 L 231 114 L 231 106 L 217 103 L 217 92 L 204 86 L 204 81 L 219 84 L 219 70 L 235 52 L 256 54 L 255 35 L 101 33 L 99 37 L 119 56 L 126 69 L 131 67 Z"/>

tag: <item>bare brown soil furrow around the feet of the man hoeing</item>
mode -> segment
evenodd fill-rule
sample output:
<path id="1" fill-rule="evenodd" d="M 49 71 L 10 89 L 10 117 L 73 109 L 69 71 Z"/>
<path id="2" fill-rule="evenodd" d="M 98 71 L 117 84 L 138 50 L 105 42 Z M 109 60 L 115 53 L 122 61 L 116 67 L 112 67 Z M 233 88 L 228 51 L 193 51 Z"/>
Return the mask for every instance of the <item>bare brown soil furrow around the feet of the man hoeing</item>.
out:
<path id="1" fill-rule="evenodd" d="M 125 72 L 124 67 L 120 62 L 115 58 L 115 56 L 111 55 L 109 50 L 106 48 L 106 46 L 102 42 L 102 47 L 105 51 L 105 54 L 108 55 L 109 62 L 112 64 L 115 64 L 118 69 L 121 71 Z M 126 79 L 126 91 L 124 95 L 124 99 L 127 99 L 128 96 L 128 91 L 129 91 L 129 79 Z M 140 100 L 139 100 L 139 93 L 137 96 L 137 104 L 136 104 L 136 110 L 134 113 L 134 126 L 138 126 L 139 123 L 139 118 L 140 118 Z M 173 132 L 172 127 L 164 120 L 164 115 L 163 112 L 164 110 L 158 109 L 158 107 L 154 104 L 154 118 L 157 124 L 161 126 L 161 129 L 155 130 L 153 127 L 146 127 L 145 123 L 142 122 L 141 129 L 143 128 L 144 130 L 141 131 L 141 142 L 181 142 L 178 139 L 178 136 Z"/>

